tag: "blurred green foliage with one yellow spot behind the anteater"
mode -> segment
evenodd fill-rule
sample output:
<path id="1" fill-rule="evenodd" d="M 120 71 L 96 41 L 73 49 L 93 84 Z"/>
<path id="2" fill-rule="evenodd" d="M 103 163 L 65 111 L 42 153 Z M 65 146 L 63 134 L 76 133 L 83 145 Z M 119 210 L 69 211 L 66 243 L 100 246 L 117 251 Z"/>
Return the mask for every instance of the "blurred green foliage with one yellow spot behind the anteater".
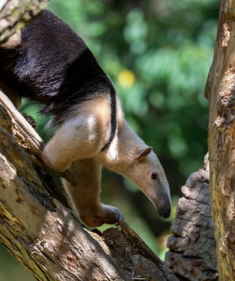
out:
<path id="1" fill-rule="evenodd" d="M 154 148 L 170 183 L 173 212 L 162 220 L 145 195 L 121 176 L 104 171 L 102 200 L 162 259 L 170 221 L 187 176 L 207 152 L 208 101 L 203 97 L 213 58 L 218 0 L 51 0 L 86 41 L 121 97 L 126 119 Z M 43 55 L 43 54 L 42 54 Z M 45 117 L 27 103 L 45 139 Z M 104 229 L 104 228 L 102 228 Z M 0 248 L 0 280 L 32 280 Z M 13 268 L 13 270 L 12 270 Z"/>

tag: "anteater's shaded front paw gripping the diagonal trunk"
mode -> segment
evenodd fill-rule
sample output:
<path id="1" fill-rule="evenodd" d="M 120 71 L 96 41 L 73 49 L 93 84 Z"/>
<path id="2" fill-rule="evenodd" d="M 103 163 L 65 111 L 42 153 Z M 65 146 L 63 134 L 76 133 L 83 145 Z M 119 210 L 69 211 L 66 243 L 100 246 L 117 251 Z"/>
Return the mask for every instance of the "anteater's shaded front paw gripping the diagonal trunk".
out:
<path id="1" fill-rule="evenodd" d="M 116 207 L 100 204 L 99 207 L 80 212 L 81 220 L 88 226 L 97 228 L 102 224 L 115 224 L 123 220 L 123 215 Z"/>

